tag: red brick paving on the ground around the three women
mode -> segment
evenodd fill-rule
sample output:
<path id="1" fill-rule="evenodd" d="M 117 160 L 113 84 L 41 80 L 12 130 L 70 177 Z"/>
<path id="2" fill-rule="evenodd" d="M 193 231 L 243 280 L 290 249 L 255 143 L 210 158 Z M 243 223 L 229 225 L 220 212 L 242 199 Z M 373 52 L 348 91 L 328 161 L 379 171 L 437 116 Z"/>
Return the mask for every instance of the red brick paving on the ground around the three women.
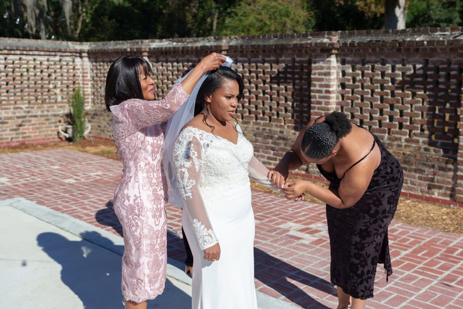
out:
<path id="1" fill-rule="evenodd" d="M 121 176 L 120 162 L 79 151 L 0 155 L 0 199 L 23 197 L 120 234 L 111 200 Z M 325 206 L 256 191 L 252 198 L 257 290 L 303 308 L 335 308 Z M 180 210 L 166 211 L 168 254 L 183 261 Z M 386 283 L 378 267 L 368 308 L 462 308 L 463 237 L 393 222 L 389 246 L 394 274 Z"/>

